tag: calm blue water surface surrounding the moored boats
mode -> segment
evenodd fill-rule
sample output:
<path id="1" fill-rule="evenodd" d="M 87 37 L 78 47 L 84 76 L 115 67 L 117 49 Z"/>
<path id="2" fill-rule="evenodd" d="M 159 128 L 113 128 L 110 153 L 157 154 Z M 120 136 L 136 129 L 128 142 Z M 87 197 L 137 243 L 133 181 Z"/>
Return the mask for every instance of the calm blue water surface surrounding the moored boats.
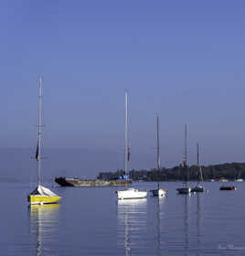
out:
<path id="1" fill-rule="evenodd" d="M 59 205 L 30 208 L 32 187 L 1 183 L 2 255 L 245 255 L 245 183 L 206 183 L 208 193 L 191 196 L 160 185 L 167 197 L 124 201 L 114 187 L 54 187 Z"/>

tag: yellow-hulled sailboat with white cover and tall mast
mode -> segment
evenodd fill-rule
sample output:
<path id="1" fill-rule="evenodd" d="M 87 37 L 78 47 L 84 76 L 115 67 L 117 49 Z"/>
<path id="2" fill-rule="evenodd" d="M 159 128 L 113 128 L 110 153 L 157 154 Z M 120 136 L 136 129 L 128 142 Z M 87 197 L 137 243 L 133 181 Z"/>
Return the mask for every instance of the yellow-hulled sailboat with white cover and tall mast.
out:
<path id="1" fill-rule="evenodd" d="M 42 78 L 39 78 L 39 97 L 38 97 L 38 140 L 36 160 L 38 165 L 37 187 L 28 195 L 27 199 L 31 205 L 57 203 L 61 197 L 52 192 L 48 187 L 41 185 L 41 135 L 42 135 Z"/>

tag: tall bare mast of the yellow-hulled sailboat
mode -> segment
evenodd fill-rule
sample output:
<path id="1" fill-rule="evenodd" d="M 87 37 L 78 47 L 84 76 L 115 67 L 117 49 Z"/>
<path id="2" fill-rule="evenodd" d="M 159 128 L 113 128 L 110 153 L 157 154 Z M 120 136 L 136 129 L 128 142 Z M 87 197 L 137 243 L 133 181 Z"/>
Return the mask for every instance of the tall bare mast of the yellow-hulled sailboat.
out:
<path id="1" fill-rule="evenodd" d="M 41 185 L 41 127 L 42 127 L 42 77 L 39 78 L 38 95 L 38 143 L 37 143 L 37 162 L 38 162 L 38 186 Z"/>

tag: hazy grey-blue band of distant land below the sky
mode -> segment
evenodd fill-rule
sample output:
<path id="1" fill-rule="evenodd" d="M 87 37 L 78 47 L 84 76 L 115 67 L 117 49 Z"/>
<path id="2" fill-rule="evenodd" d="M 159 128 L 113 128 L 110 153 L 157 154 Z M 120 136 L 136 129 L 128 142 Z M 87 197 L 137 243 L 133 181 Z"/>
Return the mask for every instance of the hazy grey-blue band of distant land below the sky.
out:
<path id="1" fill-rule="evenodd" d="M 1 181 L 0 182 L 23 182 L 32 185 L 37 184 L 37 161 L 35 160 L 34 148 L 0 148 L 1 154 Z M 42 181 L 44 184 L 53 183 L 55 176 L 95 178 L 100 172 L 115 172 L 124 168 L 123 152 L 89 150 L 89 149 L 50 149 L 46 148 L 43 152 L 42 160 Z M 169 161 L 162 163 L 162 167 L 173 167 L 180 165 L 179 161 Z M 208 165 L 223 164 L 224 161 L 213 162 Z M 196 162 L 189 162 L 195 165 Z M 201 163 L 207 165 L 206 163 Z M 156 167 L 154 152 L 147 155 L 144 153 L 133 152 L 129 169 L 150 170 Z"/>

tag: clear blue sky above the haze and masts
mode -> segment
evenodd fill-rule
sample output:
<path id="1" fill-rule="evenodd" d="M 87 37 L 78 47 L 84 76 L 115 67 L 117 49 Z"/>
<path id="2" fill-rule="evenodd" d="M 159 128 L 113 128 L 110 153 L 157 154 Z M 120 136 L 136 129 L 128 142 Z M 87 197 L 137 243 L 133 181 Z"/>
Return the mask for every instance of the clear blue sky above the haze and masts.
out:
<path id="1" fill-rule="evenodd" d="M 1 147 L 35 147 L 44 78 L 44 145 L 123 154 L 162 165 L 244 162 L 244 1 L 1 1 Z M 96 158 L 96 155 L 94 156 Z M 146 166 L 146 164 L 145 164 Z M 106 167 L 106 166 L 105 166 Z M 121 166 L 119 166 L 121 167 Z"/>

